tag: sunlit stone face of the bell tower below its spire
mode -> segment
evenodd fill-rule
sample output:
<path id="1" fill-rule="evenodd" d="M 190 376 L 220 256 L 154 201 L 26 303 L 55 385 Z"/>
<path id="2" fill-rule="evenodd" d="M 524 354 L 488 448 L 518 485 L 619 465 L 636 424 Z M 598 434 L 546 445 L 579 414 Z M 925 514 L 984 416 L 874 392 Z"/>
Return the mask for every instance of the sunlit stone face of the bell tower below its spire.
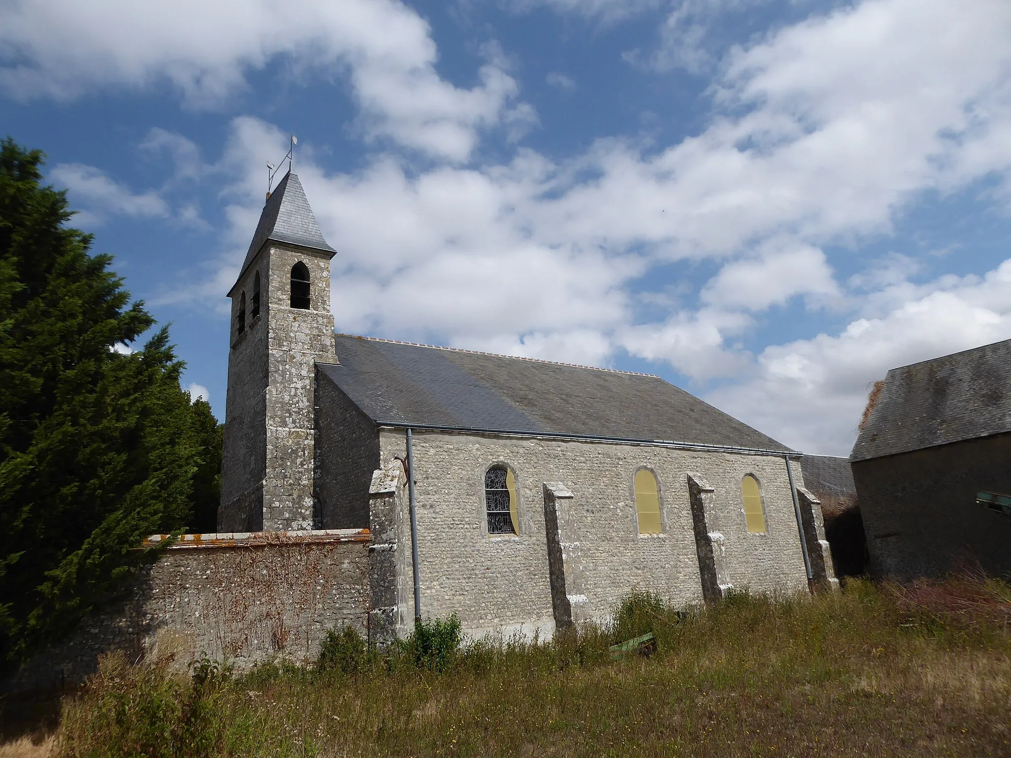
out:
<path id="1" fill-rule="evenodd" d="M 311 310 L 290 307 L 291 267 L 309 271 Z M 330 258 L 315 251 L 272 245 L 266 476 L 263 528 L 307 530 L 313 526 L 313 385 L 315 362 L 336 363 L 334 316 L 330 312 Z"/>

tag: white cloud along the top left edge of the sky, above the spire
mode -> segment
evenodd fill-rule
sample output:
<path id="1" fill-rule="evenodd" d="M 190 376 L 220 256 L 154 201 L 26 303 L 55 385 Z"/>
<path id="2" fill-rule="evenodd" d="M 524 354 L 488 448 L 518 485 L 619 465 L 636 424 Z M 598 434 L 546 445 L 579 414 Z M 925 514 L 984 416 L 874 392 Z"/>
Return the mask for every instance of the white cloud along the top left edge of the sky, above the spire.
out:
<path id="1" fill-rule="evenodd" d="M 21 98 L 72 98 L 169 81 L 192 107 L 245 88 L 246 72 L 279 57 L 298 69 L 348 72 L 367 139 L 390 138 L 466 161 L 482 128 L 530 123 L 501 56 L 486 46 L 479 83 L 436 72 L 428 24 L 396 0 L 32 0 L 0 25 L 0 88 Z"/>

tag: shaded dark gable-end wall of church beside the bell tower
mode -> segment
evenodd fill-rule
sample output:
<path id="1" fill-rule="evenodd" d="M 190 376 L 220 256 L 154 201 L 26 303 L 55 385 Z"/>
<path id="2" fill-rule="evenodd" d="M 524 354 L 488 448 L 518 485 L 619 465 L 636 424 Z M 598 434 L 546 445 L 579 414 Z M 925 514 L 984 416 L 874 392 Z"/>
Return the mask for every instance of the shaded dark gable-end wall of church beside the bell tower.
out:
<path id="1" fill-rule="evenodd" d="M 315 503 L 324 529 L 369 527 L 379 431 L 324 372 L 315 384 Z"/>

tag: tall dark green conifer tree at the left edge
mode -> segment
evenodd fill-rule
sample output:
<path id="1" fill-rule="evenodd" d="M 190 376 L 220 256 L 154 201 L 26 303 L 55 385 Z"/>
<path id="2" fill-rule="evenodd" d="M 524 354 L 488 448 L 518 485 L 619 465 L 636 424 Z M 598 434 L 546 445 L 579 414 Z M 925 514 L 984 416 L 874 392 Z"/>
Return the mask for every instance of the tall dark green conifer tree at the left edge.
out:
<path id="1" fill-rule="evenodd" d="M 168 330 L 70 228 L 42 154 L 0 143 L 0 667 L 122 589 L 154 533 L 213 524 L 220 429 Z"/>

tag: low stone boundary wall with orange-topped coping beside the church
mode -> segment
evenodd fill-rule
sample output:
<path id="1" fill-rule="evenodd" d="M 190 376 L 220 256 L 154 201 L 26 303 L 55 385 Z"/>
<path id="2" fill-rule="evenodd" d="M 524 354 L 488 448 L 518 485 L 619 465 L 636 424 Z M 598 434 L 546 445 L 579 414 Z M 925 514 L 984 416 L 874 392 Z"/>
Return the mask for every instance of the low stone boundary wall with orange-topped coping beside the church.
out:
<path id="1" fill-rule="evenodd" d="M 144 547 L 168 539 L 155 535 Z M 113 650 L 133 660 L 202 657 L 245 667 L 313 659 L 326 631 L 368 634 L 368 530 L 183 535 L 118 603 L 85 619 L 3 683 L 38 689 L 83 680 Z"/>

